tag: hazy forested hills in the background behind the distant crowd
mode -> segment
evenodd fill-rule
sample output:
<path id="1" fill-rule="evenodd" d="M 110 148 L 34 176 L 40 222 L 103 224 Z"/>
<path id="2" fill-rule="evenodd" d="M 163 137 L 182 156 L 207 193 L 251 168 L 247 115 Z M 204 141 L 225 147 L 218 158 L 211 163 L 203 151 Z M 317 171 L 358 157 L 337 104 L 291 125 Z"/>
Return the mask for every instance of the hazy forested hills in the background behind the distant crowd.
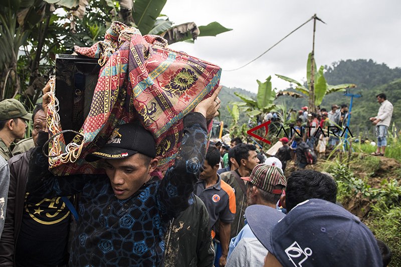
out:
<path id="1" fill-rule="evenodd" d="M 392 121 L 398 128 L 401 128 L 401 68 L 391 69 L 385 64 L 377 64 L 373 60 L 346 60 L 325 66 L 325 78 L 328 84 L 336 85 L 343 83 L 353 83 L 357 88 L 351 89 L 351 93 L 361 94 L 362 97 L 354 99 L 352 108 L 351 127 L 371 126 L 369 117 L 376 116 L 379 104 L 375 96 L 385 93 L 387 99 L 393 104 L 394 112 Z M 275 85 L 273 84 L 273 87 Z M 239 88 L 223 87 L 222 98 L 222 119 L 231 122 L 230 115 L 226 106 L 230 101 L 239 101 L 234 92 L 241 92 L 252 98 L 256 94 Z M 330 110 L 332 104 L 348 104 L 350 98 L 345 97 L 343 92 L 326 95 L 321 105 L 322 108 Z M 290 108 L 299 109 L 307 105 L 307 98 L 294 99 L 288 96 L 279 97 L 277 104 L 284 104 L 287 110 Z M 240 116 L 240 123 L 247 121 L 245 116 Z"/>

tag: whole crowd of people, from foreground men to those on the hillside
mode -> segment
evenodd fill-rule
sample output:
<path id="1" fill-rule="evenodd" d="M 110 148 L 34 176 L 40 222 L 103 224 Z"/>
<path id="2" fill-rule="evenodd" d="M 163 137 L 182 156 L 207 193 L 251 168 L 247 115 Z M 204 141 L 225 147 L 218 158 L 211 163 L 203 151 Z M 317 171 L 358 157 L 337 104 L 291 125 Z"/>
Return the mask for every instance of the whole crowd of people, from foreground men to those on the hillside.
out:
<path id="1" fill-rule="evenodd" d="M 275 157 L 240 137 L 208 147 L 207 122 L 218 115 L 219 87 L 184 117 L 179 152 L 162 179 L 153 176 L 153 136 L 138 123 L 115 128 L 106 145 L 85 158 L 101 160 L 105 174 L 54 176 L 43 152 L 48 89 L 33 114 L 17 100 L 0 102 L 0 266 L 390 262 L 388 246 L 337 202 L 333 177 L 304 170 L 321 141 L 334 146 L 338 140 L 315 136 L 311 128 L 303 137 L 281 138 Z M 392 105 L 384 94 L 377 100 L 384 108 L 370 120 L 380 128 L 391 120 Z M 346 105 L 317 113 L 303 107 L 293 128 L 345 125 L 347 112 Z M 264 120 L 273 118 L 270 113 Z M 32 138 L 11 151 L 31 119 Z M 386 143 L 378 138 L 379 155 Z M 290 160 L 299 168 L 286 176 Z"/>

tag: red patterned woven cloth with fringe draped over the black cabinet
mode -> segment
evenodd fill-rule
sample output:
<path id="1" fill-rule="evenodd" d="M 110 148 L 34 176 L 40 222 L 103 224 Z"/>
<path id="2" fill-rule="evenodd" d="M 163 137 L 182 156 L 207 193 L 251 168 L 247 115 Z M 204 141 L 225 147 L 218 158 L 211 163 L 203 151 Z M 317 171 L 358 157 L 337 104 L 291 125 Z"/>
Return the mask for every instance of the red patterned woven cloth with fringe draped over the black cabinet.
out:
<path id="1" fill-rule="evenodd" d="M 156 142 L 158 171 L 174 163 L 183 137 L 182 118 L 219 86 L 221 68 L 167 48 L 155 35 L 142 36 L 136 28 L 113 22 L 105 40 L 75 52 L 98 58 L 103 67 L 88 117 L 72 143 L 65 144 L 51 95 L 48 125 L 49 165 L 55 175 L 99 173 L 85 156 L 102 147 L 113 129 L 139 120 Z M 208 125 L 211 130 L 212 124 Z M 57 136 L 56 136 L 57 135 Z"/>

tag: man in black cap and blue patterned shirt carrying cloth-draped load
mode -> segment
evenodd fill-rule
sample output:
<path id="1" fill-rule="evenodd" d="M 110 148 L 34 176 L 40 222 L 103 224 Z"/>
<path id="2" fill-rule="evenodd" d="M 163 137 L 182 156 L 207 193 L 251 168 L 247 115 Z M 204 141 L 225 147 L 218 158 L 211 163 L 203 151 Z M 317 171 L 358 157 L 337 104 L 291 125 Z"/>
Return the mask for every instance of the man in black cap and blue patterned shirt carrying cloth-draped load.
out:
<path id="1" fill-rule="evenodd" d="M 104 147 L 87 156 L 88 161 L 103 160 L 107 176 L 54 176 L 42 153 L 49 136 L 40 133 L 30 163 L 28 190 L 49 197 L 81 192 L 71 266 L 161 265 L 168 221 L 187 208 L 202 171 L 206 124 L 218 115 L 220 90 L 184 117 L 184 137 L 175 164 L 162 180 L 150 175 L 158 163 L 155 142 L 139 123 L 119 125 Z M 48 95 L 44 95 L 45 109 L 47 102 Z"/>

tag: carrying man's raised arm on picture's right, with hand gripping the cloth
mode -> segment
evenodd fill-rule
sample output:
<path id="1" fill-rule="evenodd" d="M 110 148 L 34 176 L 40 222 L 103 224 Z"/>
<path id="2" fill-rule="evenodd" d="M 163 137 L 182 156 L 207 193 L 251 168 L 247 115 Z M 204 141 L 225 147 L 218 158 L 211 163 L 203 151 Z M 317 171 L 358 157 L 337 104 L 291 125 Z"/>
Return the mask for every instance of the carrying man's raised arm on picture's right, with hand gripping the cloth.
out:
<path id="1" fill-rule="evenodd" d="M 221 86 L 211 97 L 201 101 L 194 112 L 183 119 L 184 135 L 174 166 L 170 167 L 161 180 L 157 190 L 157 205 L 159 210 L 172 218 L 188 207 L 188 197 L 193 192 L 206 157 L 208 141 L 207 120 L 219 115 L 219 98 Z"/>

